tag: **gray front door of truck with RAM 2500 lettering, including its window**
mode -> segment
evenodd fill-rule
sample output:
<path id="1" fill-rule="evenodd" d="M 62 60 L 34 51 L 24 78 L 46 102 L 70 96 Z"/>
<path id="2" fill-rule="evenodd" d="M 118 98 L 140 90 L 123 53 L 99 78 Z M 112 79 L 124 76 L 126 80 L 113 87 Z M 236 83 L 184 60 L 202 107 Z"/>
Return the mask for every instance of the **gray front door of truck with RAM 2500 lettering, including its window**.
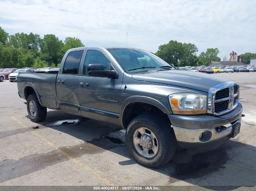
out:
<path id="1" fill-rule="evenodd" d="M 79 77 L 81 114 L 85 117 L 119 124 L 120 88 L 122 78 L 110 79 L 88 76 L 89 64 L 102 64 L 112 70 L 109 59 L 98 50 L 87 50 L 82 74 Z"/>

